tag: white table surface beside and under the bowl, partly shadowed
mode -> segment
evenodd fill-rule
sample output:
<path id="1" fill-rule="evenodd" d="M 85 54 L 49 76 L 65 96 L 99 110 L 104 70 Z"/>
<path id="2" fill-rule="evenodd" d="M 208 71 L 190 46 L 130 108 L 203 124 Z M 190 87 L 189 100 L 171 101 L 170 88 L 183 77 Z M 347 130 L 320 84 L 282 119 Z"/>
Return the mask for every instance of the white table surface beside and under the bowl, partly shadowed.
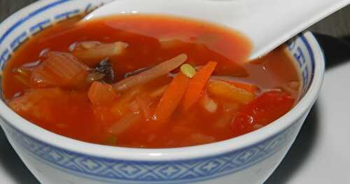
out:
<path id="1" fill-rule="evenodd" d="M 350 183 L 349 95 L 350 61 L 328 67 L 317 103 L 267 184 Z M 1 130 L 0 148 L 0 183 L 38 183 Z"/>

